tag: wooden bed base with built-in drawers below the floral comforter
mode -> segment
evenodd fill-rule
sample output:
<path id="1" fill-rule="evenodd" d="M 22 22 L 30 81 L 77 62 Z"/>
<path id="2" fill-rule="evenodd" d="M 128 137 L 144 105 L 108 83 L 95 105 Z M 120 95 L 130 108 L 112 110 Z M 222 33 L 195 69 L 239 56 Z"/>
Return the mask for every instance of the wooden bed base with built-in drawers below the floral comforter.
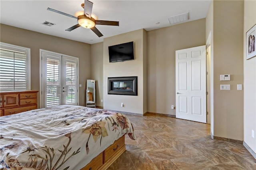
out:
<path id="1" fill-rule="evenodd" d="M 126 150 L 124 142 L 123 135 L 81 170 L 106 170 Z"/>

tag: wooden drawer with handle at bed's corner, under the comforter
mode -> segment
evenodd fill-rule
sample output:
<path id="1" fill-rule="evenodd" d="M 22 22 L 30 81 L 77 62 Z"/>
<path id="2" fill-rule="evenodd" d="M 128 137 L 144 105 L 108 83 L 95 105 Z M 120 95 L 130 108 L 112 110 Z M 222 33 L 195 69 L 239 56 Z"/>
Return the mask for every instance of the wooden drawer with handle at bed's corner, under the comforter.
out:
<path id="1" fill-rule="evenodd" d="M 111 157 L 115 154 L 115 152 L 118 152 L 122 147 L 125 147 L 124 143 L 124 136 L 116 140 L 112 145 L 110 145 L 105 150 L 105 161 L 108 161 L 111 159 Z"/>

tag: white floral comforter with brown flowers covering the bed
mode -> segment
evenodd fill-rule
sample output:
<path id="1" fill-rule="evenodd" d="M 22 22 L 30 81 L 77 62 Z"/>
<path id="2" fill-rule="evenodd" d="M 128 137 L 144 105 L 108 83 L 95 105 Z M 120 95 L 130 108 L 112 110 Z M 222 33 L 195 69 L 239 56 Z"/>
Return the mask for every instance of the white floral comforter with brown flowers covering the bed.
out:
<path id="1" fill-rule="evenodd" d="M 123 114 L 62 105 L 0 117 L 0 170 L 79 170 L 133 127 Z"/>

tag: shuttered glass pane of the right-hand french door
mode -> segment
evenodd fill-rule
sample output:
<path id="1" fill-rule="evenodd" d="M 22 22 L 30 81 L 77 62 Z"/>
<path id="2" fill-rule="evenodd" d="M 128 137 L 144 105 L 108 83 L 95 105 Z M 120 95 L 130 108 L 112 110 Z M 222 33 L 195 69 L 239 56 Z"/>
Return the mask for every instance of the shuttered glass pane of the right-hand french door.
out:
<path id="1" fill-rule="evenodd" d="M 66 104 L 76 102 L 76 63 L 66 62 Z"/>

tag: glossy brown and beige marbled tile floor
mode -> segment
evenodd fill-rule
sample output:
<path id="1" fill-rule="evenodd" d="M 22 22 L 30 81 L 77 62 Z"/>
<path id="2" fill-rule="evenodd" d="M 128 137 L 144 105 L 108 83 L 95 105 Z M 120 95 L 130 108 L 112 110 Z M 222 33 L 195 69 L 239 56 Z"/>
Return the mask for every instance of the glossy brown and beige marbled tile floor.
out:
<path id="1" fill-rule="evenodd" d="M 108 170 L 256 170 L 242 144 L 212 140 L 210 125 L 161 115 L 127 115 L 137 140 Z"/>

